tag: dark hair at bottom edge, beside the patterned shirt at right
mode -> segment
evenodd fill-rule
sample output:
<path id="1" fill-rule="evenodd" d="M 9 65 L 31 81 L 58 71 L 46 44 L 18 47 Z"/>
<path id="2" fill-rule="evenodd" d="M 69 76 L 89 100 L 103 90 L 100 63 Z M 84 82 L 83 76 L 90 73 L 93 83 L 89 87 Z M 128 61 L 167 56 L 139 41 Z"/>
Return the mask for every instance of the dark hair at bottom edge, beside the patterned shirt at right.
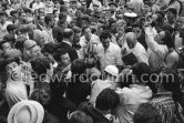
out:
<path id="1" fill-rule="evenodd" d="M 134 123 L 162 123 L 160 112 L 150 103 L 140 105 L 133 116 Z"/>

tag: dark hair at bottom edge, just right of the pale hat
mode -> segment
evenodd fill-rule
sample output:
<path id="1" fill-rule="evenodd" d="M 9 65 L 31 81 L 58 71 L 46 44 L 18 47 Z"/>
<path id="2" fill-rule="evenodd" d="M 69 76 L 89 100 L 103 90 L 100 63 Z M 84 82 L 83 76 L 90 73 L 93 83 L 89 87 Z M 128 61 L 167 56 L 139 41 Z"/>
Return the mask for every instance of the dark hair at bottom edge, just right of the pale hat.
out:
<path id="1" fill-rule="evenodd" d="M 84 112 L 75 111 L 72 113 L 71 117 L 69 119 L 69 123 L 93 123 L 93 120 Z"/>

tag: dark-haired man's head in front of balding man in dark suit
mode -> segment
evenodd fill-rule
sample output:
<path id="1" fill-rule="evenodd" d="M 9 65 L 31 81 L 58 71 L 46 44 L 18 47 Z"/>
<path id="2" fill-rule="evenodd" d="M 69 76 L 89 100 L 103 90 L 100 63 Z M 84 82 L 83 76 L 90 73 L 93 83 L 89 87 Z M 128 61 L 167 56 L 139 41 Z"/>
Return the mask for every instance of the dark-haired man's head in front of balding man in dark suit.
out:
<path id="1" fill-rule="evenodd" d="M 53 54 L 54 60 L 63 65 L 63 66 L 68 66 L 71 63 L 69 53 L 65 50 L 58 50 L 54 54 Z"/>

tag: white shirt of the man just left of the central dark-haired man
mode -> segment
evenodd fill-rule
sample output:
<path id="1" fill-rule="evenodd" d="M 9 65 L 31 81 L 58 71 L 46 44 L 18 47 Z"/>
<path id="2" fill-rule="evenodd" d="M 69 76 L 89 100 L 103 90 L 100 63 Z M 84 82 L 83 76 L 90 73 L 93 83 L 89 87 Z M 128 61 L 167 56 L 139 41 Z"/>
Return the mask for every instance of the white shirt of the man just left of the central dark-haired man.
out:
<path id="1" fill-rule="evenodd" d="M 88 44 L 89 44 L 89 42 L 86 41 L 85 37 L 83 35 L 83 37 L 81 37 L 79 43 L 80 43 L 80 45 L 81 45 L 81 49 L 79 50 L 79 54 L 80 54 L 79 57 L 80 57 L 81 59 L 84 59 L 85 53 L 86 53 L 86 51 L 88 51 Z M 92 34 L 92 35 L 91 35 L 90 43 L 100 44 L 100 39 L 99 39 L 99 37 L 95 35 L 95 34 Z"/>

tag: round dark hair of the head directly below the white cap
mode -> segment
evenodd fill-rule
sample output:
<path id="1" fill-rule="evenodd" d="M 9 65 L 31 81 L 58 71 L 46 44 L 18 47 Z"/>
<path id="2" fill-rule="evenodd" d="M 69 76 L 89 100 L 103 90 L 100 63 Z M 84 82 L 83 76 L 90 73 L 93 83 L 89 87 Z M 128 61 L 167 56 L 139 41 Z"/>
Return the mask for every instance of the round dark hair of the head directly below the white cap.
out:
<path id="1" fill-rule="evenodd" d="M 120 103 L 120 96 L 111 89 L 104 89 L 96 98 L 95 107 L 101 111 L 115 109 Z"/>

